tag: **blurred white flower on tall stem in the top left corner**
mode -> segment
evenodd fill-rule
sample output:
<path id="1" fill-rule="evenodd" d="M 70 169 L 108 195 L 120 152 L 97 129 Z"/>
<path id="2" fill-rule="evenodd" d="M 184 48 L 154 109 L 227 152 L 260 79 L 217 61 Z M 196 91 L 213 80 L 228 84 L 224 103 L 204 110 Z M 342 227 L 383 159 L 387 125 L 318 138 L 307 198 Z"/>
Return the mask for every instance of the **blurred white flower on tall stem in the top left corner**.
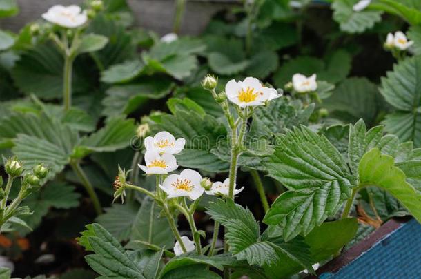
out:
<path id="1" fill-rule="evenodd" d="M 77 5 L 71 5 L 68 7 L 55 5 L 52 6 L 48 11 L 42 14 L 43 19 L 55 23 L 66 28 L 76 28 L 84 25 L 88 20 L 86 10 L 83 12 Z"/>

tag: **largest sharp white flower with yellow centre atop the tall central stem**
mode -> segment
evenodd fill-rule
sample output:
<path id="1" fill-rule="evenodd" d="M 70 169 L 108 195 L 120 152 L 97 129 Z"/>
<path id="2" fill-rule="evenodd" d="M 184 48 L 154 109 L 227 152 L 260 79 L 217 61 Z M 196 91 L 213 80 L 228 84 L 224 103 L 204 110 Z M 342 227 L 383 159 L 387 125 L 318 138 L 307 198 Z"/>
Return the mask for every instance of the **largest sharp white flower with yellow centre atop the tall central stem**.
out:
<path id="1" fill-rule="evenodd" d="M 264 87 L 256 78 L 248 77 L 244 81 L 231 79 L 225 85 L 225 93 L 228 99 L 239 107 L 264 105 L 282 94 L 277 94 L 273 88 Z"/>

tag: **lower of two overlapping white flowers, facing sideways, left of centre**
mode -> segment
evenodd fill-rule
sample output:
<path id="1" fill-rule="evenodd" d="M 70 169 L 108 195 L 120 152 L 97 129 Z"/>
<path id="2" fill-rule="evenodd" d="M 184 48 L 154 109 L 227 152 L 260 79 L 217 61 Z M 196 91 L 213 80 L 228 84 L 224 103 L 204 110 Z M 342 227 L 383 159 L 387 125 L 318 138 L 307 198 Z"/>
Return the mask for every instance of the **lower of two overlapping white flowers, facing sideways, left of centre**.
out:
<path id="1" fill-rule="evenodd" d="M 162 154 L 153 150 L 148 150 L 145 153 L 145 165 L 137 164 L 141 170 L 146 174 L 168 174 L 177 169 L 177 161 L 171 154 Z"/>

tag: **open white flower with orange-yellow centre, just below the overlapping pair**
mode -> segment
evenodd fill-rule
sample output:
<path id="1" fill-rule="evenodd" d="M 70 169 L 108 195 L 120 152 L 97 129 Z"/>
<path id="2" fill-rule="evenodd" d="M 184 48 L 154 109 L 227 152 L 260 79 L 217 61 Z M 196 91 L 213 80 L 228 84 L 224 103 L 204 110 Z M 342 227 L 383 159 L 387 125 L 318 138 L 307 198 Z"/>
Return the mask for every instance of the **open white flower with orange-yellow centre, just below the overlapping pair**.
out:
<path id="1" fill-rule="evenodd" d="M 200 185 L 202 176 L 193 169 L 184 169 L 180 174 L 170 174 L 159 187 L 166 192 L 168 198 L 188 196 L 197 200 L 202 196 L 204 188 Z"/>

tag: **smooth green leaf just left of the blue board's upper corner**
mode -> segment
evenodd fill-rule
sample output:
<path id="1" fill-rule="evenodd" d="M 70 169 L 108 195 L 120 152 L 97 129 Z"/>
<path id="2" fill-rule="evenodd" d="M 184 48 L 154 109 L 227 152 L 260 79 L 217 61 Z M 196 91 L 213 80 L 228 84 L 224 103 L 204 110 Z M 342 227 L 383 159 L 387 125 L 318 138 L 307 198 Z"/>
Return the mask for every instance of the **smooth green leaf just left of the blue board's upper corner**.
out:
<path id="1" fill-rule="evenodd" d="M 315 262 L 328 260 L 348 242 L 358 229 L 356 218 L 344 218 L 332 222 L 325 222 L 315 227 L 304 240 L 310 247 L 311 256 Z"/>

